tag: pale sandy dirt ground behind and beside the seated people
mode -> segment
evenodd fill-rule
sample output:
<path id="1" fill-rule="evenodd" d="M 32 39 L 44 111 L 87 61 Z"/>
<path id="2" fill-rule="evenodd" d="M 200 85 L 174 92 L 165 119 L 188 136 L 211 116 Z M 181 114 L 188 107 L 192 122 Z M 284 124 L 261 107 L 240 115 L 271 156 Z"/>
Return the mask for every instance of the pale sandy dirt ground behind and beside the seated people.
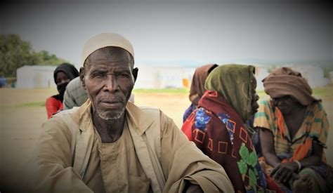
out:
<path id="1" fill-rule="evenodd" d="M 20 189 L 22 170 L 37 142 L 41 124 L 46 121 L 46 109 L 38 104 L 55 93 L 55 88 L 0 89 L 0 192 Z M 187 93 L 135 93 L 135 103 L 162 109 L 179 128 L 183 112 L 190 105 Z M 323 98 L 323 105 L 329 122 L 333 124 L 333 97 Z M 329 154 L 333 149 L 332 131 L 327 145 L 327 161 L 333 166 L 333 155 Z"/>

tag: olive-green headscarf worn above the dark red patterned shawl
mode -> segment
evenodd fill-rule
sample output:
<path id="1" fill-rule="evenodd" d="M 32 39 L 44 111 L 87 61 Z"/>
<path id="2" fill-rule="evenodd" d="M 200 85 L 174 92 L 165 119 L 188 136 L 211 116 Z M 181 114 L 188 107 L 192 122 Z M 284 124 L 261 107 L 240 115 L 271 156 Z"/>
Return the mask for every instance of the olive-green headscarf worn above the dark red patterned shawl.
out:
<path id="1" fill-rule="evenodd" d="M 207 77 L 204 87 L 217 91 L 247 121 L 252 115 L 252 95 L 256 90 L 256 78 L 252 65 L 221 65 Z"/>

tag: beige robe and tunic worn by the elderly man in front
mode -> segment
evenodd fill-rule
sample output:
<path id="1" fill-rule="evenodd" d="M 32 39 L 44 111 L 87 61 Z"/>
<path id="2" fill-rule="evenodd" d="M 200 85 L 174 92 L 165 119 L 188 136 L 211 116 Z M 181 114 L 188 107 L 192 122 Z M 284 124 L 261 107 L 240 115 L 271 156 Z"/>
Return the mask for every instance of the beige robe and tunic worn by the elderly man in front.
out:
<path id="1" fill-rule="evenodd" d="M 89 100 L 56 114 L 42 128 L 27 176 L 30 190 L 182 192 L 188 180 L 204 192 L 233 192 L 224 169 L 158 109 L 129 102 L 126 128 L 113 145 L 100 142 Z"/>

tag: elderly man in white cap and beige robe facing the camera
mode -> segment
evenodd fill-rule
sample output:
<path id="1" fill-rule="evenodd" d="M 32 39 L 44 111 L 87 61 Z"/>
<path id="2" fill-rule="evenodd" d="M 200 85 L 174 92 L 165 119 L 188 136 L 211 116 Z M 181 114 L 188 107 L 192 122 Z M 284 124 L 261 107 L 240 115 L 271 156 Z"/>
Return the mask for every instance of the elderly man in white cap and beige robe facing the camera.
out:
<path id="1" fill-rule="evenodd" d="M 233 192 L 226 172 L 159 109 L 127 102 L 138 68 L 130 42 L 105 33 L 86 42 L 81 107 L 43 125 L 30 186 L 43 192 Z"/>

